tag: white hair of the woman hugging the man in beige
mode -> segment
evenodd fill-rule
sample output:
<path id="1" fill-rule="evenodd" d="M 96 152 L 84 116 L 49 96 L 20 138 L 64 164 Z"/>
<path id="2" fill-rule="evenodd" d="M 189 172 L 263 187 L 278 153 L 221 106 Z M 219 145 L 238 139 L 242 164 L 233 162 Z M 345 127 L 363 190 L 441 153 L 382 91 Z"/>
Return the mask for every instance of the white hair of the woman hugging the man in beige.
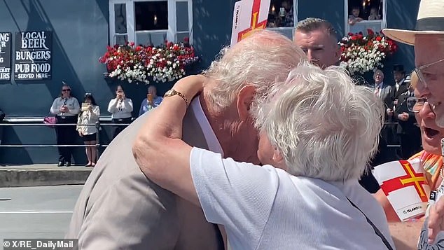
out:
<path id="1" fill-rule="evenodd" d="M 359 179 L 377 150 L 382 101 L 339 67 L 303 62 L 275 88 L 257 119 L 288 172 L 325 181 Z"/>

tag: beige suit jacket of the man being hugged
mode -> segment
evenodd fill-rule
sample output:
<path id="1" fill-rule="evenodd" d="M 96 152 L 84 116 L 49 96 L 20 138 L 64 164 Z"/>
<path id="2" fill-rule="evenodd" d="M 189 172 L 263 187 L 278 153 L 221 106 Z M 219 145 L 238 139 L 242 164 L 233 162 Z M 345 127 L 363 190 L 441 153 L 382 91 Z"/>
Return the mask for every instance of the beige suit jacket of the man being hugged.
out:
<path id="1" fill-rule="evenodd" d="M 78 197 L 67 238 L 79 249 L 223 249 L 216 225 L 202 209 L 146 179 L 131 146 L 145 113 L 113 139 Z M 183 120 L 183 140 L 208 148 L 191 109 Z"/>

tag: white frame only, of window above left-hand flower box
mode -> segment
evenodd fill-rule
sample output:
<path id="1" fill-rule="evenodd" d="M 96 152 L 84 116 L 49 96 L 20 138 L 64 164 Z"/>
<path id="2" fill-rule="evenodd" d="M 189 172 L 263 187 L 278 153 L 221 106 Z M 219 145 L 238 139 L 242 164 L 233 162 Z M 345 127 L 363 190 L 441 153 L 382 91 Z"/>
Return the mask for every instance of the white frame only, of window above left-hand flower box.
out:
<path id="1" fill-rule="evenodd" d="M 177 27 L 176 27 L 176 3 L 187 2 L 188 3 L 188 29 L 190 43 L 193 43 L 193 0 L 165 0 L 168 4 L 168 29 L 165 30 L 153 30 L 153 31 L 136 31 L 135 18 L 134 18 L 134 4 L 138 1 L 162 1 L 162 0 L 109 0 L 109 43 L 116 44 L 116 16 L 114 13 L 114 4 L 125 4 L 126 18 L 127 18 L 127 41 L 136 40 L 137 33 L 150 33 L 155 34 L 159 32 L 167 32 L 168 41 L 176 41 Z M 183 33 L 183 32 L 179 32 Z"/>

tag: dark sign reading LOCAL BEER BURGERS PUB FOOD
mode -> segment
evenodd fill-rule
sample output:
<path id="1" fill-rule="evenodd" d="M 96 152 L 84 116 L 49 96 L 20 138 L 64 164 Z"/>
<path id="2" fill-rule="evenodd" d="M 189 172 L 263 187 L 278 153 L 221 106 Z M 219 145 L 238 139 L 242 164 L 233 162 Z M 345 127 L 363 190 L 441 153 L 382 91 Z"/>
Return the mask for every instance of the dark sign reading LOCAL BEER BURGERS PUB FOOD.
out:
<path id="1" fill-rule="evenodd" d="M 53 55 L 52 32 L 15 34 L 15 81 L 50 80 Z"/>

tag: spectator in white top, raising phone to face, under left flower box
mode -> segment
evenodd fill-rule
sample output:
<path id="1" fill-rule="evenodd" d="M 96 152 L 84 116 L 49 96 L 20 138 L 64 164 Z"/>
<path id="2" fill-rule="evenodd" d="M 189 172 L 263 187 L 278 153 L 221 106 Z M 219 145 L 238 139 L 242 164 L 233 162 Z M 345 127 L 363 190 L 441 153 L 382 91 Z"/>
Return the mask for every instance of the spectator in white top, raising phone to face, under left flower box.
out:
<path id="1" fill-rule="evenodd" d="M 109 101 L 108 112 L 111 113 L 113 123 L 117 124 L 114 126 L 114 139 L 120 132 L 122 132 L 122 130 L 125 130 L 125 127 L 127 127 L 127 125 L 119 124 L 129 124 L 131 123 L 132 118 L 132 100 L 126 97 L 125 91 L 121 85 L 118 85 L 116 88 L 116 98 Z"/>

